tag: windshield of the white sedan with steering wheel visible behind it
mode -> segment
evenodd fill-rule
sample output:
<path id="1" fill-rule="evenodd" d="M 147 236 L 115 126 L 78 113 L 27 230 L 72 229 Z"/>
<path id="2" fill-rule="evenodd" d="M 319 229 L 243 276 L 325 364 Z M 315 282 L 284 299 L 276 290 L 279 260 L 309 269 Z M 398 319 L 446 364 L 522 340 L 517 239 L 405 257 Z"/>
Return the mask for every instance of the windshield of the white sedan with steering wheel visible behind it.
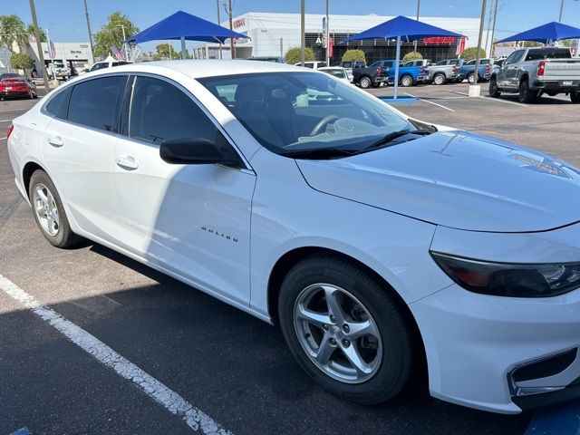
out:
<path id="1" fill-rule="evenodd" d="M 371 95 L 323 73 L 255 73 L 198 79 L 255 138 L 278 154 L 362 150 L 414 128 Z"/>

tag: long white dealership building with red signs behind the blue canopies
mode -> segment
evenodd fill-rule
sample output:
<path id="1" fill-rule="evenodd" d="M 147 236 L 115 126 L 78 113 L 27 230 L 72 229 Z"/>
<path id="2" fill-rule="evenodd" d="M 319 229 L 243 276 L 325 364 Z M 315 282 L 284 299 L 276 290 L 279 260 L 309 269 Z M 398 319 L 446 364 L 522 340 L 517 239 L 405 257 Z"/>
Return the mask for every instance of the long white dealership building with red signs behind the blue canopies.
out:
<path id="1" fill-rule="evenodd" d="M 306 46 L 313 48 L 317 60 L 324 60 L 324 14 L 305 15 Z M 384 15 L 339 15 L 329 16 L 330 37 L 333 40 L 333 56 L 331 63 L 341 60 L 348 49 L 361 49 L 366 54 L 367 62 L 380 59 L 394 59 L 395 41 L 376 39 L 360 43 L 341 43 L 344 38 L 361 33 L 377 24 L 394 18 Z M 451 32 L 467 37 L 466 47 L 478 43 L 479 18 L 447 18 L 421 17 L 420 21 L 442 27 Z M 228 27 L 228 22 L 221 25 Z M 237 58 L 251 56 L 284 56 L 288 48 L 300 45 L 300 14 L 273 14 L 248 12 L 233 19 L 233 29 L 240 34 L 246 34 L 248 39 L 240 39 L 236 43 Z M 487 34 L 483 34 L 483 43 Z M 433 61 L 456 57 L 460 38 L 426 38 L 419 40 L 417 50 L 424 58 Z M 229 43 L 196 44 L 194 56 L 200 59 L 218 59 L 219 51 L 223 59 L 229 59 Z M 403 41 L 401 56 L 411 52 L 413 42 Z"/>

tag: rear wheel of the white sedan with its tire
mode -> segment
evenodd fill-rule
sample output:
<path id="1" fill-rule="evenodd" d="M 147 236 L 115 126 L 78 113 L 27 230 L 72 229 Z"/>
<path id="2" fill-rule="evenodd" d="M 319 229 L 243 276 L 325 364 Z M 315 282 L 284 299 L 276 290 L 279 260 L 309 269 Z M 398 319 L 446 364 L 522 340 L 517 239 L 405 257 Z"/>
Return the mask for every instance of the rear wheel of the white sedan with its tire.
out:
<path id="1" fill-rule="evenodd" d="M 36 225 L 53 247 L 73 247 L 79 243 L 81 237 L 71 229 L 53 180 L 42 169 L 35 170 L 30 179 L 28 198 Z"/>

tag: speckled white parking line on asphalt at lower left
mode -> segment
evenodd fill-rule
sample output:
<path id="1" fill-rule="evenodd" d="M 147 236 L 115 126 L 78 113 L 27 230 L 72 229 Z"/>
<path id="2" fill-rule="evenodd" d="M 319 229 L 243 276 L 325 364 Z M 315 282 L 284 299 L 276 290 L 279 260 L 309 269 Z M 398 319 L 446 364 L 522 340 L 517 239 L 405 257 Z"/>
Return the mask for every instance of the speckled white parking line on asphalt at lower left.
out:
<path id="1" fill-rule="evenodd" d="M 0 289 L 26 308 L 38 315 L 43 321 L 51 324 L 60 333 L 66 336 L 83 351 L 91 354 L 96 360 L 111 368 L 122 378 L 133 382 L 145 392 L 153 401 L 157 401 L 167 411 L 179 416 L 192 430 L 201 430 L 210 435 L 231 435 L 231 432 L 222 428 L 218 422 L 211 419 L 205 412 L 198 410 L 177 392 L 169 390 L 164 384 L 143 372 L 135 364 L 122 357 L 102 343 L 98 338 L 87 333 L 82 328 L 65 319 L 53 309 L 43 306 L 32 295 L 15 285 L 12 281 L 0 275 Z"/>

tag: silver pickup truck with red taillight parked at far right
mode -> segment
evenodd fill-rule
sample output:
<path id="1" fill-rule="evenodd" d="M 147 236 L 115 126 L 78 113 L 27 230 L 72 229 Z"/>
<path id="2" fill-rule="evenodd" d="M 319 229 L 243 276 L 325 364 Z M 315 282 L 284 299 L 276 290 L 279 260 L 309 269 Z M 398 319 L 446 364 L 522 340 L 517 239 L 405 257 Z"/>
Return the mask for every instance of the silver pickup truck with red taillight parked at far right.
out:
<path id="1" fill-rule="evenodd" d="M 535 102 L 544 93 L 565 93 L 579 103 L 580 58 L 572 58 L 567 48 L 516 50 L 491 74 L 489 96 L 498 97 L 501 92 L 518 93 L 519 102 Z"/>

